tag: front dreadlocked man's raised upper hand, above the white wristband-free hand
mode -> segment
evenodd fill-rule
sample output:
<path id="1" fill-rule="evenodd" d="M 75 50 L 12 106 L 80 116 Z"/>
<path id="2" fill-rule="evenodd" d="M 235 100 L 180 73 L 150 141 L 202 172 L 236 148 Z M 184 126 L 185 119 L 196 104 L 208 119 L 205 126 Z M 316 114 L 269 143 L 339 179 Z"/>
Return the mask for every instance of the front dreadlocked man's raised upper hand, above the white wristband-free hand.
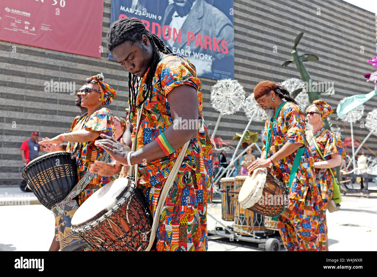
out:
<path id="1" fill-rule="evenodd" d="M 123 142 L 122 144 L 113 139 L 111 136 L 106 136 L 105 134 L 101 134 L 101 138 L 103 139 L 98 139 L 98 141 L 95 141 L 94 144 L 109 153 L 109 155 L 115 159 L 115 161 L 123 165 L 128 165 L 127 153 L 131 151 L 131 148 L 123 142 L 123 139 L 121 139 L 121 142 Z"/>

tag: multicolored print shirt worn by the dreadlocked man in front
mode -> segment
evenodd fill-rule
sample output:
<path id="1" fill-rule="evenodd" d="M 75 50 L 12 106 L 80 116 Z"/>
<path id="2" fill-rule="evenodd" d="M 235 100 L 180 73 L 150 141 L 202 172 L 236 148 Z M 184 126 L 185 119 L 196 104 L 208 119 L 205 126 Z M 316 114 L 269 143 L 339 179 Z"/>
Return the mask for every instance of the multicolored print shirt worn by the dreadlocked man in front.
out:
<path id="1" fill-rule="evenodd" d="M 140 81 L 139 88 L 143 87 L 146 76 L 147 72 Z M 196 89 L 199 106 L 199 132 L 196 138 L 191 139 L 187 155 L 183 159 L 184 165 L 179 170 L 181 172 L 192 171 L 195 174 L 196 182 L 194 187 L 198 203 L 210 203 L 213 191 L 213 159 L 211 141 L 202 116 L 202 84 L 199 78 L 196 77 L 195 66 L 181 55 L 164 55 L 157 65 L 155 76 L 153 77 L 151 101 L 147 99 L 144 103 L 137 137 L 137 147 L 138 149 L 142 148 L 153 141 L 173 124 L 167 95 L 174 87 L 179 85 L 189 85 Z M 139 104 L 142 100 L 143 95 L 139 93 L 136 104 Z M 130 122 L 134 126 L 132 141 L 135 139 L 136 133 L 136 114 L 135 108 L 134 112 L 130 114 Z M 169 156 L 150 161 L 147 165 L 140 164 L 138 186 L 149 188 L 159 183 L 164 184 L 178 154 L 179 150 Z"/>

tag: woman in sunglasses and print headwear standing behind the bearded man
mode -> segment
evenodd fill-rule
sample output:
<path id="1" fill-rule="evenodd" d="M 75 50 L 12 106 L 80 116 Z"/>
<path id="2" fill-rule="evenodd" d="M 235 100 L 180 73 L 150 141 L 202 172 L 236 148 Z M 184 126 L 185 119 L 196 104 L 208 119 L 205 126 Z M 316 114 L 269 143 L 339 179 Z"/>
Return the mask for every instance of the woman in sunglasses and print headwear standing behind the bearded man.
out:
<path id="1" fill-rule="evenodd" d="M 317 185 L 321 188 L 323 205 L 320 207 L 320 234 L 317 238 L 319 248 L 328 251 L 326 209 L 328 203 L 333 199 L 333 175 L 330 168 L 336 175 L 335 167 L 342 161 L 343 145 L 342 141 L 336 137 L 334 132 L 323 128 L 324 120 L 333 112 L 329 104 L 323 100 L 314 100 L 306 109 L 308 123 L 313 126 L 313 130 L 305 131 L 306 139 L 310 145 L 310 150 L 314 158 L 314 172 Z M 314 140 L 316 144 L 314 143 Z M 322 153 L 323 159 L 321 157 Z"/>

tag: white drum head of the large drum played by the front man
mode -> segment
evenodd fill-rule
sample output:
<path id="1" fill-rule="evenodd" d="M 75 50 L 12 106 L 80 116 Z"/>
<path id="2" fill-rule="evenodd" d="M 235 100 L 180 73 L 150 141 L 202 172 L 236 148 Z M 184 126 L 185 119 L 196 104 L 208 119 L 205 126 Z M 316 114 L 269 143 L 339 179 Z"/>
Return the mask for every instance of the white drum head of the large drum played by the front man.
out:
<path id="1" fill-rule="evenodd" d="M 72 217 L 72 227 L 80 228 L 107 213 L 129 190 L 132 180 L 118 178 L 92 194 Z"/>

